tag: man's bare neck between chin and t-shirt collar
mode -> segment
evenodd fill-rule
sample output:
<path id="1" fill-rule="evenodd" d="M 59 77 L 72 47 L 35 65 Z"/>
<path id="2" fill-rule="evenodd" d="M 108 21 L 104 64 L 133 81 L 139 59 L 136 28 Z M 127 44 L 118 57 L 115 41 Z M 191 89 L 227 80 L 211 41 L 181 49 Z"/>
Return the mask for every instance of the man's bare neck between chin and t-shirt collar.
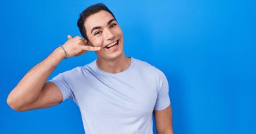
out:
<path id="1" fill-rule="evenodd" d="M 131 58 L 128 58 L 125 55 L 120 56 L 115 60 L 102 60 L 98 58 L 96 64 L 101 70 L 115 74 L 126 70 L 131 64 Z"/>

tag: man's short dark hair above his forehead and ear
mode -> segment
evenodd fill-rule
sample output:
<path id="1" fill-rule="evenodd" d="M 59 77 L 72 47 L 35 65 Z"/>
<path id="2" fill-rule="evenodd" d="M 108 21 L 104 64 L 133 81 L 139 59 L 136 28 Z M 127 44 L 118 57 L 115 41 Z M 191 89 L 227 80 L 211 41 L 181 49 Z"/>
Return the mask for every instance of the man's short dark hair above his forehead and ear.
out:
<path id="1" fill-rule="evenodd" d="M 79 27 L 79 31 L 80 31 L 81 35 L 86 40 L 88 40 L 88 36 L 86 35 L 86 27 L 84 27 L 84 21 L 90 15 L 93 15 L 94 13 L 98 13 L 99 11 L 102 11 L 102 10 L 107 11 L 108 13 L 113 15 L 113 17 L 115 18 L 115 15 L 108 9 L 108 7 L 106 7 L 106 5 L 104 5 L 102 3 L 91 5 L 90 7 L 87 7 L 86 9 L 84 9 L 84 11 L 82 11 L 82 13 L 80 13 L 79 19 L 77 20 L 77 26 Z"/>

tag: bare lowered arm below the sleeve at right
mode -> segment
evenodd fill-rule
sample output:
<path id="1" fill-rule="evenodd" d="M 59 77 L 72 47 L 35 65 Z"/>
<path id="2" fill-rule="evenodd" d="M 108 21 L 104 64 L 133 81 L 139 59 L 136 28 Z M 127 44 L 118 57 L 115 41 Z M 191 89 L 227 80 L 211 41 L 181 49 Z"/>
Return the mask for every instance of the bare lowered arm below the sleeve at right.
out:
<path id="1" fill-rule="evenodd" d="M 162 111 L 154 111 L 156 130 L 158 134 L 173 134 L 172 109 L 167 107 Z"/>

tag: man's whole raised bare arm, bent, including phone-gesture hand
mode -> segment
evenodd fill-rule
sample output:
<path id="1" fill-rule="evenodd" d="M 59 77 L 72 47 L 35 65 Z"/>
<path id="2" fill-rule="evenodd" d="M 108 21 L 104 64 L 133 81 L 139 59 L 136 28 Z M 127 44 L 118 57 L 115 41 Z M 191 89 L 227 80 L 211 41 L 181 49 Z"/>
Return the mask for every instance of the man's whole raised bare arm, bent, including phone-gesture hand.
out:
<path id="1" fill-rule="evenodd" d="M 79 56 L 87 50 L 99 50 L 99 48 L 87 46 L 79 36 L 72 38 L 63 44 L 69 56 Z M 59 88 L 52 82 L 46 82 L 56 66 L 63 60 L 64 51 L 56 48 L 42 62 L 30 69 L 20 80 L 17 86 L 11 90 L 7 104 L 16 111 L 28 111 L 51 107 L 61 103 L 63 96 Z"/>

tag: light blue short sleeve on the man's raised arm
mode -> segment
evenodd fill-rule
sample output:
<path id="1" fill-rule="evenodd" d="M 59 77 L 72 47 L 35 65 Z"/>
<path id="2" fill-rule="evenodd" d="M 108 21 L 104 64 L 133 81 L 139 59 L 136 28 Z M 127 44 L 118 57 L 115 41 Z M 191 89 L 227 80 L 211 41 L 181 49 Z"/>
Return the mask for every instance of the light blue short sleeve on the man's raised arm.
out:
<path id="1" fill-rule="evenodd" d="M 59 87 L 63 95 L 63 101 L 66 100 L 67 98 L 71 98 L 72 100 L 74 100 L 75 97 L 71 89 L 72 85 L 67 79 L 67 77 L 65 76 L 65 74 L 60 73 L 54 78 L 52 78 L 51 80 L 49 80 L 48 82 L 53 82 Z"/>

